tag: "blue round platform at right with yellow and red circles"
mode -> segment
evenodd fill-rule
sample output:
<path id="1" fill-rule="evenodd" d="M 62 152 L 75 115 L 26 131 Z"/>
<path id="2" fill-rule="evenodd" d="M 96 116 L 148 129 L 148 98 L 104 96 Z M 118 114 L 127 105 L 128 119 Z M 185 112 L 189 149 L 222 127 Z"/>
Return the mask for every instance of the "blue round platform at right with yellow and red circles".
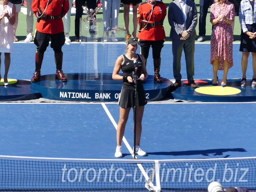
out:
<path id="1" fill-rule="evenodd" d="M 221 79 L 218 86 L 212 86 L 211 79 L 196 80 L 198 88 L 187 86 L 182 81 L 181 87 L 170 94 L 171 99 L 204 101 L 204 102 L 251 102 L 256 101 L 256 87 L 252 87 L 252 80 L 247 79 L 246 87 L 241 87 L 241 79 L 228 79 L 227 86 L 221 87 Z"/>

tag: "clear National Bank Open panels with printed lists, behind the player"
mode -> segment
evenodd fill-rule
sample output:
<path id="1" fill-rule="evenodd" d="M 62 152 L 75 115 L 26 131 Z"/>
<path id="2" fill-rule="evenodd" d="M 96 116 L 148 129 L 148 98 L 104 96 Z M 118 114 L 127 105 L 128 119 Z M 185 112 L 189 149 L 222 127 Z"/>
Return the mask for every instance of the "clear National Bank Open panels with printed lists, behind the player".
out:
<path id="1" fill-rule="evenodd" d="M 110 28 L 104 31 L 100 19 L 80 19 L 79 82 L 80 84 L 110 83 L 118 56 L 125 53 L 125 29 Z"/>

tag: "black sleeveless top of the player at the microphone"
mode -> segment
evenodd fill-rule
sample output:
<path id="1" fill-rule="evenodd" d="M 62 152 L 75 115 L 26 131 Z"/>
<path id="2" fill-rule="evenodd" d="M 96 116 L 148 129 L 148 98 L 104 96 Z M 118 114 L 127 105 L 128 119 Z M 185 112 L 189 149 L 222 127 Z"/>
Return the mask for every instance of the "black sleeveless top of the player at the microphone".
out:
<path id="1" fill-rule="evenodd" d="M 142 60 L 140 57 L 140 54 L 137 54 L 137 59 L 135 59 L 137 61 L 137 76 L 140 77 L 141 76 L 141 69 L 142 69 Z M 132 72 L 135 72 L 135 66 L 134 66 L 134 60 L 130 60 L 126 57 L 126 54 L 122 55 L 124 58 L 124 63 L 122 64 L 121 70 L 123 72 L 124 76 L 131 76 L 132 77 Z M 142 84 L 142 82 L 140 80 L 137 81 L 137 84 Z M 128 80 L 124 80 L 123 81 L 123 87 L 124 88 L 128 88 L 128 89 L 134 89 L 135 87 L 135 83 L 129 83 Z"/>

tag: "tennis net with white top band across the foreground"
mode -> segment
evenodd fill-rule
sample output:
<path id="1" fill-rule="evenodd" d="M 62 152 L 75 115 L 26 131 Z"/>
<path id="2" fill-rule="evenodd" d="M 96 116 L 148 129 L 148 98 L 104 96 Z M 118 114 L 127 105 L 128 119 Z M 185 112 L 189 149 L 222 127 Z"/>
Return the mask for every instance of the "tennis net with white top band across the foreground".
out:
<path id="1" fill-rule="evenodd" d="M 256 157 L 184 160 L 103 160 L 0 156 L 0 191 L 256 190 Z"/>

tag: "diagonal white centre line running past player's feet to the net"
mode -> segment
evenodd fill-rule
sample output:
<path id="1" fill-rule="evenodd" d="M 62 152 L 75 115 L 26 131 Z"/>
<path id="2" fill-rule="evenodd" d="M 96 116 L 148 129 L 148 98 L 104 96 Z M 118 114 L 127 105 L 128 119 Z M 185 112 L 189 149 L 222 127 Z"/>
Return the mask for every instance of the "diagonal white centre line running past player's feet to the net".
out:
<path id="1" fill-rule="evenodd" d="M 101 103 L 102 107 L 104 108 L 105 112 L 107 113 L 110 121 L 112 122 L 112 124 L 114 125 L 114 127 L 116 128 L 117 130 L 117 124 L 116 124 L 116 121 L 114 120 L 114 118 L 112 117 L 112 115 L 110 114 L 107 106 L 105 105 L 105 103 Z M 124 141 L 124 144 L 125 146 L 128 148 L 129 152 L 131 153 L 132 157 L 133 157 L 133 150 L 131 148 L 131 146 L 129 145 L 128 141 L 125 139 L 125 137 L 123 137 L 123 141 Z M 136 156 L 135 156 L 136 157 Z M 136 157 L 137 159 L 137 157 Z M 147 175 L 147 173 L 145 172 L 144 168 L 142 167 L 141 164 L 137 164 L 138 167 L 140 168 L 140 171 L 142 172 L 142 174 L 144 175 L 145 179 L 148 181 L 149 177 Z M 147 183 L 147 182 L 146 182 Z M 150 187 L 154 187 L 153 183 L 150 181 L 150 183 L 148 183 L 150 185 Z M 147 186 L 145 186 L 147 187 Z"/>

